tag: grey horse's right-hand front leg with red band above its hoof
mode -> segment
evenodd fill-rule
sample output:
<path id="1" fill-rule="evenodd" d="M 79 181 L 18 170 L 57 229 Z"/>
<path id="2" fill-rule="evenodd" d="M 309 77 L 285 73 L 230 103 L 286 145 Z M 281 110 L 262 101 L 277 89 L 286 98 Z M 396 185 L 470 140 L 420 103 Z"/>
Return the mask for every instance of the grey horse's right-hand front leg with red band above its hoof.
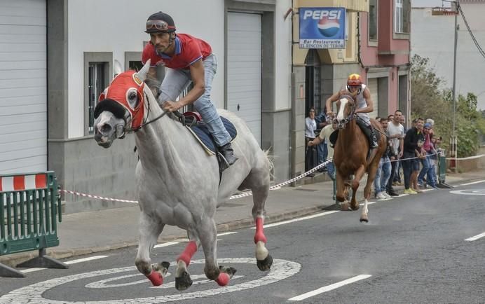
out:
<path id="1" fill-rule="evenodd" d="M 219 268 L 217 265 L 217 228 L 214 219 L 202 219 L 196 229 L 205 255 L 205 276 L 217 282 L 219 286 L 226 286 L 235 269 L 222 266 Z"/>

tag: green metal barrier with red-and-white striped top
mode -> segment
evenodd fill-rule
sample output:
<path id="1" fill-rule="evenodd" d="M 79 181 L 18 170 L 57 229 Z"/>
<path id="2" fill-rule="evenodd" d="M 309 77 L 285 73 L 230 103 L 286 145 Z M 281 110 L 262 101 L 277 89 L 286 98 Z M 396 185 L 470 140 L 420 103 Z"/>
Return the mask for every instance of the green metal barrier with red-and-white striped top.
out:
<path id="1" fill-rule="evenodd" d="M 45 256 L 59 245 L 57 220 L 62 221 L 60 194 L 54 172 L 0 176 L 0 256 L 39 250 L 39 256 L 18 267 L 67 268 Z M 0 276 L 24 277 L 0 264 Z"/>

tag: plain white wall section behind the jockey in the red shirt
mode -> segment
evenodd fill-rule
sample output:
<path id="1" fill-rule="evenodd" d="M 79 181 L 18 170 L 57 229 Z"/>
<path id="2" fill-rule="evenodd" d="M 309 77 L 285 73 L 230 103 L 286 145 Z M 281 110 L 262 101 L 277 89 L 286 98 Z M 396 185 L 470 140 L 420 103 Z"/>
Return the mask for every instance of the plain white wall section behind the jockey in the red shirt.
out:
<path id="1" fill-rule="evenodd" d="M 224 1 L 223 0 L 69 0 L 69 138 L 84 135 L 84 52 L 113 52 L 125 62 L 125 52 L 141 52 L 146 18 L 164 11 L 174 18 L 177 32 L 204 39 L 219 58 L 212 100 L 224 105 Z M 282 19 L 282 18 L 281 18 Z"/>

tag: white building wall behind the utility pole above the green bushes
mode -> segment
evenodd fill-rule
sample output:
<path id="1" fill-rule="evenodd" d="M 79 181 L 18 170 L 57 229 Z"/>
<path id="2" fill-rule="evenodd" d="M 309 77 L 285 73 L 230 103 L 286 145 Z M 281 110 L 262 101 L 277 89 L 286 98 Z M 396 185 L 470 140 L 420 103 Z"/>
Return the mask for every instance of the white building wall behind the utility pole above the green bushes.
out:
<path id="1" fill-rule="evenodd" d="M 481 48 L 485 48 L 485 3 L 462 4 L 462 10 Z M 478 77 L 485 71 L 482 57 L 471 39 L 461 15 L 458 15 L 458 50 L 456 60 L 456 91 L 478 96 L 478 108 L 485 109 L 484 80 Z M 431 8 L 411 11 L 411 56 L 418 54 L 430 59 L 437 76 L 444 78 L 444 88 L 453 87 L 454 16 L 431 15 Z M 412 88 L 411 88 L 412 90 Z"/>

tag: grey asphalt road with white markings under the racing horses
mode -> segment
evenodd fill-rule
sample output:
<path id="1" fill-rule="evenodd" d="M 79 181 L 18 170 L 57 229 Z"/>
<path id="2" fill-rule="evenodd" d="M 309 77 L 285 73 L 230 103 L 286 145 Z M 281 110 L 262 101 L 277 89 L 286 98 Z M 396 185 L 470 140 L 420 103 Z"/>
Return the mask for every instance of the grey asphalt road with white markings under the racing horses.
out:
<path id="1" fill-rule="evenodd" d="M 0 303 L 484 303 L 484 195 L 485 183 L 471 184 L 378 200 L 367 224 L 360 212 L 322 212 L 270 225 L 271 272 L 255 265 L 254 230 L 221 235 L 219 263 L 238 270 L 226 287 L 207 281 L 201 251 L 190 289 L 177 291 L 173 275 L 152 287 L 128 248 L 64 261 L 67 270 L 0 277 Z M 174 261 L 183 248 L 155 248 L 153 262 Z"/>

